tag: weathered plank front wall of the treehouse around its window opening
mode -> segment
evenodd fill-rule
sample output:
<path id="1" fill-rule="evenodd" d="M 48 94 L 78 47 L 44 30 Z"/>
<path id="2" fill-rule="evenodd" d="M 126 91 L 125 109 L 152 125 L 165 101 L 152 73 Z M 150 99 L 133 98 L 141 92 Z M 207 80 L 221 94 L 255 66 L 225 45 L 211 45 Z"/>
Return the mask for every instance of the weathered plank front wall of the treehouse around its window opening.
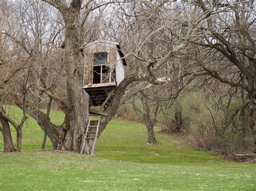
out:
<path id="1" fill-rule="evenodd" d="M 93 53 L 107 52 L 106 66 L 110 68 L 116 67 L 117 45 L 103 42 L 84 47 L 84 84 L 92 85 L 93 80 Z"/>

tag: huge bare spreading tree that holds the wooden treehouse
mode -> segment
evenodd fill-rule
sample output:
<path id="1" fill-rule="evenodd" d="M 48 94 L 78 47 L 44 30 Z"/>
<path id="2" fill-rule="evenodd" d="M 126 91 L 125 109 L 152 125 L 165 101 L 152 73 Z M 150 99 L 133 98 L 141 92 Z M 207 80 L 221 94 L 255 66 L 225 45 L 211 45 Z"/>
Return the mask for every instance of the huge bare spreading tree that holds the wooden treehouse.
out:
<path id="1" fill-rule="evenodd" d="M 198 25 L 206 19 L 214 11 L 215 5 L 206 13 L 203 12 L 201 15 L 198 15 L 197 12 L 191 11 L 191 3 L 154 3 L 154 2 L 95 2 L 95 1 L 79 1 L 72 0 L 70 3 L 66 1 L 53 1 L 45 0 L 46 3 L 53 6 L 58 10 L 60 15 L 63 18 L 64 22 L 64 32 L 63 36 L 65 37 L 63 44 L 61 45 L 64 48 L 63 51 L 58 49 L 60 58 L 63 58 L 64 71 L 65 71 L 65 92 L 66 100 L 59 98 L 56 94 L 51 92 L 53 89 L 46 89 L 45 87 L 38 86 L 37 90 L 41 93 L 48 95 L 52 98 L 57 104 L 58 108 L 65 113 L 65 119 L 62 125 L 55 125 L 50 121 L 48 115 L 45 115 L 41 110 L 38 109 L 38 105 L 33 104 L 33 98 L 38 99 L 38 94 L 34 94 L 36 89 L 33 89 L 33 94 L 31 96 L 25 95 L 31 91 L 32 87 L 30 84 L 25 84 L 26 90 L 23 93 L 18 93 L 17 91 L 11 91 L 10 94 L 12 99 L 18 105 L 19 108 L 23 109 L 24 112 L 29 114 L 31 117 L 36 119 L 37 123 L 43 130 L 45 126 L 47 127 L 47 135 L 51 139 L 54 149 L 65 150 L 65 151 L 75 151 L 82 153 L 94 153 L 92 150 L 91 143 L 85 144 L 85 147 L 82 150 L 82 143 L 85 139 L 85 127 L 89 121 L 89 96 L 82 89 L 83 82 L 83 64 L 81 62 L 80 49 L 86 43 L 84 39 L 86 36 L 86 27 L 88 20 L 93 11 L 97 11 L 105 6 L 113 5 L 122 7 L 123 14 L 127 8 L 131 8 L 131 17 L 129 21 L 132 20 L 138 15 L 144 15 L 148 19 L 153 19 L 153 23 L 161 23 L 157 29 L 153 29 L 149 33 L 149 37 L 156 34 L 159 36 L 159 43 L 165 42 L 166 46 L 164 49 L 160 50 L 157 56 L 149 57 L 146 54 L 137 54 L 133 52 L 127 52 L 126 58 L 136 58 L 137 61 L 143 62 L 145 67 L 145 72 L 143 73 L 132 73 L 125 77 L 125 79 L 119 84 L 116 89 L 116 93 L 113 96 L 112 104 L 109 108 L 106 109 L 107 116 L 103 116 L 100 120 L 100 127 L 98 136 L 106 128 L 107 123 L 112 119 L 114 114 L 116 114 L 117 109 L 129 100 L 130 97 L 137 94 L 139 91 L 149 88 L 152 84 L 161 85 L 165 83 L 168 79 L 163 76 L 157 76 L 157 70 L 164 65 L 168 60 L 170 60 L 174 54 L 179 52 L 181 49 L 185 48 L 188 45 L 189 40 L 194 35 L 195 29 Z M 39 2 L 41 3 L 41 2 Z M 139 8 L 139 9 L 138 9 Z M 147 8 L 147 9 L 146 9 Z M 150 9 L 148 9 L 150 8 Z M 151 16 L 151 11 L 156 11 L 156 15 Z M 182 15 L 180 13 L 183 13 Z M 184 15 L 190 15 L 196 20 L 196 22 L 191 23 L 187 22 L 187 19 Z M 167 16 L 167 17 L 166 17 Z M 127 21 L 127 20 L 126 20 Z M 188 23 L 188 26 L 184 26 Z M 23 26 L 23 25 L 22 25 Z M 129 30 L 129 26 L 126 26 L 125 29 Z M 145 31 L 141 31 L 140 35 L 146 37 Z M 149 31 L 147 31 L 149 32 Z M 59 32 L 54 32 L 58 34 Z M 28 56 L 30 63 L 33 67 L 37 67 L 36 58 L 42 58 L 40 52 L 36 52 L 35 48 L 37 46 L 43 47 L 42 39 L 38 40 L 36 46 L 31 46 L 33 42 L 29 40 L 19 40 L 18 38 L 12 38 L 9 33 L 6 33 L 6 36 L 10 37 L 15 43 L 18 44 L 20 48 L 23 49 L 22 56 Z M 23 36 L 25 34 L 23 33 Z M 26 37 L 29 39 L 30 36 Z M 51 36 L 51 39 L 54 38 Z M 164 39 L 161 39 L 164 37 Z M 21 37 L 19 37 L 21 38 Z M 61 39 L 62 36 L 59 37 Z M 36 38 L 38 39 L 38 38 Z M 137 48 L 142 48 L 146 46 L 149 42 L 148 38 L 145 38 L 144 41 L 138 42 L 136 44 Z M 49 43 L 47 43 L 49 44 Z M 24 58 L 24 57 L 23 57 Z M 28 76 L 33 76 L 31 69 L 26 70 Z M 35 76 L 33 76 L 35 77 Z M 30 78 L 31 79 L 31 78 Z M 35 78 L 32 78 L 35 80 Z M 37 79 L 40 79 L 40 76 L 37 76 Z M 145 82 L 141 82 L 145 81 Z M 132 89 L 127 90 L 127 87 L 132 82 L 138 82 L 136 86 Z M 35 83 L 33 83 L 35 84 Z M 41 85 L 41 84 L 39 84 Z M 127 90 L 127 91 L 126 91 Z M 56 91 L 55 91 L 56 92 Z"/>

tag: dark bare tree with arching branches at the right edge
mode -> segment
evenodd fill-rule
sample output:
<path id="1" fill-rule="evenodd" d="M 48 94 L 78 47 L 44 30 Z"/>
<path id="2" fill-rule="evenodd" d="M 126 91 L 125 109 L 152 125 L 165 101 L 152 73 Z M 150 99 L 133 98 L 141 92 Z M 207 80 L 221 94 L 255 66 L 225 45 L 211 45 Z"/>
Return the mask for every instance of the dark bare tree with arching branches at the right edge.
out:
<path id="1" fill-rule="evenodd" d="M 242 129 L 244 134 L 253 137 L 256 144 L 254 5 L 253 1 L 217 2 L 215 14 L 208 17 L 199 27 L 204 35 L 194 38 L 192 43 L 196 45 L 193 59 L 199 66 L 196 68 L 203 69 L 202 75 L 211 76 L 227 84 L 230 86 L 230 92 L 232 89 L 233 92 L 241 89 L 242 112 L 244 113 L 245 108 L 250 105 L 251 115 L 249 122 L 244 124 Z M 195 6 L 206 13 L 214 3 L 198 1 Z M 244 100 L 245 92 L 247 103 Z"/>

